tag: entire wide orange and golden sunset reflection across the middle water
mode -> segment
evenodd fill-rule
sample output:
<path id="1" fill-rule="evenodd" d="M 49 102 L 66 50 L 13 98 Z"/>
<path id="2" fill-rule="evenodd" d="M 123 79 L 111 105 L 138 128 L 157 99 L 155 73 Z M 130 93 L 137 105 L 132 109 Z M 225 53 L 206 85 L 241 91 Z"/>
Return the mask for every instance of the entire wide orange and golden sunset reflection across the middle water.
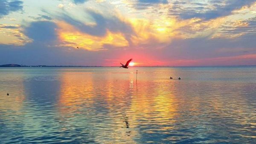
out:
<path id="1" fill-rule="evenodd" d="M 128 78 L 129 80 L 113 78 L 111 74 L 62 73 L 59 111 L 62 115 L 71 117 L 81 114 L 85 119 L 93 121 L 90 118 L 91 115 L 98 114 L 97 108 L 88 109 L 90 112 L 82 112 L 82 109 L 105 107 L 99 111 L 107 112 L 104 116 L 99 112 L 98 118 L 107 117 L 100 125 L 103 129 L 108 127 L 110 132 L 97 135 L 96 139 L 99 140 L 109 137 L 114 138 L 114 141 L 135 143 L 131 135 L 140 135 L 136 129 L 150 124 L 157 127 L 149 128 L 146 130 L 148 133 L 171 130 L 175 123 L 174 116 L 177 115 L 177 104 L 172 91 L 163 86 L 161 81 L 136 82 L 134 73 L 130 73 Z M 170 84 L 170 88 L 176 89 L 174 84 Z"/>

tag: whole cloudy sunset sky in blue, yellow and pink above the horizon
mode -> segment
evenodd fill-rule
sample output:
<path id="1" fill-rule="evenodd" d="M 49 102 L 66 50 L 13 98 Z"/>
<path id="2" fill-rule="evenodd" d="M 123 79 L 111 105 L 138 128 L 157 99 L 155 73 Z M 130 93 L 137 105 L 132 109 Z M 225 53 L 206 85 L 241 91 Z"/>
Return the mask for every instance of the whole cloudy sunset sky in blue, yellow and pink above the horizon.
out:
<path id="1" fill-rule="evenodd" d="M 0 64 L 130 58 L 135 66 L 256 65 L 256 0 L 0 0 Z"/>

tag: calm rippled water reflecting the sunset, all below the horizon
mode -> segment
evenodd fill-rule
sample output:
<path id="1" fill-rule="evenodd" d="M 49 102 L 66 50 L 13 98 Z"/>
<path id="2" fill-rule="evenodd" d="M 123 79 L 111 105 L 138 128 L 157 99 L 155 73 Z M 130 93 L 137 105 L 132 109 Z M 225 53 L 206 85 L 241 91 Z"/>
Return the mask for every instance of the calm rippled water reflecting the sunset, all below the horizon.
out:
<path id="1" fill-rule="evenodd" d="M 0 68 L 0 143 L 60 142 L 255 143 L 256 66 Z"/>

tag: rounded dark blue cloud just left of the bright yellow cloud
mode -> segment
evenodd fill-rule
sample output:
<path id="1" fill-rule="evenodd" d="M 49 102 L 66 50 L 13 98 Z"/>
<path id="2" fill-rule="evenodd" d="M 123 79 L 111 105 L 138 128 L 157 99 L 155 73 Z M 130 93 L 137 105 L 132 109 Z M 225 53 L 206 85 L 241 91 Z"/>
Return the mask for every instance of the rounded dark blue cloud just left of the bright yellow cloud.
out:
<path id="1" fill-rule="evenodd" d="M 25 28 L 25 35 L 35 42 L 52 42 L 56 40 L 56 24 L 51 21 L 35 21 Z"/>

